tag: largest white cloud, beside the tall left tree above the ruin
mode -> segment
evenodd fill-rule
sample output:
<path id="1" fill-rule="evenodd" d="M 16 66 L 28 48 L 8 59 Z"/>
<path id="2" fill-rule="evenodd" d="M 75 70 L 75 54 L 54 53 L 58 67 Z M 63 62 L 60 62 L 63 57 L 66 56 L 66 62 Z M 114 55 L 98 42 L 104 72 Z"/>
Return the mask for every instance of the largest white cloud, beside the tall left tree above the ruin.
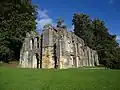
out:
<path id="1" fill-rule="evenodd" d="M 40 33 L 41 30 L 43 29 L 43 26 L 46 24 L 53 24 L 53 20 L 48 16 L 47 10 L 38 9 L 37 12 L 38 14 L 36 19 L 36 22 L 37 22 L 36 27 L 37 27 L 38 33 Z"/>

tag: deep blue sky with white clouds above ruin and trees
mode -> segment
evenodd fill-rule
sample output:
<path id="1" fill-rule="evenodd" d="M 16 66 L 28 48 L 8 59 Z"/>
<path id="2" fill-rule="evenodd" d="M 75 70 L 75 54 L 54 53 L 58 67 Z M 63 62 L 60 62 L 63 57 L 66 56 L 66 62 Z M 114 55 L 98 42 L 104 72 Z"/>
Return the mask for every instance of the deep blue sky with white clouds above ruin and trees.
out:
<path id="1" fill-rule="evenodd" d="M 38 6 L 38 32 L 45 24 L 55 25 L 58 18 L 73 30 L 73 14 L 84 13 L 92 19 L 104 20 L 110 34 L 117 35 L 120 43 L 120 0 L 32 0 L 32 3 Z"/>

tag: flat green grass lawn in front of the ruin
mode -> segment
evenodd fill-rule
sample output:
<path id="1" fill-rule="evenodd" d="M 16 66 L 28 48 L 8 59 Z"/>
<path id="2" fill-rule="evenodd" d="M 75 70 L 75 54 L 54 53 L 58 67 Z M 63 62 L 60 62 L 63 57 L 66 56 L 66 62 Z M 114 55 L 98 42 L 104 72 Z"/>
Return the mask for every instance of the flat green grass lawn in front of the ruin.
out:
<path id="1" fill-rule="evenodd" d="M 120 90 L 120 71 L 0 68 L 0 90 Z"/>

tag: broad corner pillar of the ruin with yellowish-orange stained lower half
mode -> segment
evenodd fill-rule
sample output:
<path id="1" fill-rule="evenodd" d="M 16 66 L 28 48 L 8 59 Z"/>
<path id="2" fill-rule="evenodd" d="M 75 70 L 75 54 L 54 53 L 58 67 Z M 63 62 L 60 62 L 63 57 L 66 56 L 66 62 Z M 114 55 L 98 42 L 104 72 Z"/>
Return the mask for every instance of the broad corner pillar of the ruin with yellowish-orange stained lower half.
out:
<path id="1" fill-rule="evenodd" d="M 42 67 L 43 68 L 54 68 L 54 42 L 53 42 L 53 30 L 52 28 L 46 28 L 43 31 L 43 40 L 42 40 Z"/>

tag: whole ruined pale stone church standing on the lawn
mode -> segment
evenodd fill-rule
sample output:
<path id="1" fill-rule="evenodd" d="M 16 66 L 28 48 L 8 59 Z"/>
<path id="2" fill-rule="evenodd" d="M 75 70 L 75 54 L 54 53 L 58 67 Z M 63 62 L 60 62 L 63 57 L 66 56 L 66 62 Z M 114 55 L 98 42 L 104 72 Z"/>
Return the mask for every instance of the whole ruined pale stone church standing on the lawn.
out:
<path id="1" fill-rule="evenodd" d="M 99 65 L 98 54 L 84 40 L 62 28 L 27 33 L 20 52 L 21 68 L 78 68 Z"/>

